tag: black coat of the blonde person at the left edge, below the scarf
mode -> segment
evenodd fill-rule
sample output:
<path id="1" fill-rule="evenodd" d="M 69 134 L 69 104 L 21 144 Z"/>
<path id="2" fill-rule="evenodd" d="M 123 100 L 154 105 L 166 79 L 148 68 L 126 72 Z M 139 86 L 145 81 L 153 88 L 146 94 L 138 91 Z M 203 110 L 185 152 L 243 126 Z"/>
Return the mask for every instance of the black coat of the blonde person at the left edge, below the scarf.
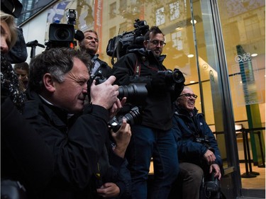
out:
<path id="1" fill-rule="evenodd" d="M 19 181 L 31 193 L 28 196 L 35 198 L 48 185 L 53 171 L 50 147 L 10 98 L 1 97 L 1 181 Z"/>

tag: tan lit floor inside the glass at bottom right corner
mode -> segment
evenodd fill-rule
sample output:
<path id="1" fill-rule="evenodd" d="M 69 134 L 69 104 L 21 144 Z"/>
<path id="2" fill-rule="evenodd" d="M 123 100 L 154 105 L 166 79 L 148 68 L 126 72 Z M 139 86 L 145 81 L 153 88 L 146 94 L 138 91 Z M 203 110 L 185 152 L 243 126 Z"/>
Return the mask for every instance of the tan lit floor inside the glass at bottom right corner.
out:
<path id="1" fill-rule="evenodd" d="M 252 166 L 252 171 L 260 175 L 255 175 L 255 178 L 241 178 L 242 187 L 247 189 L 265 189 L 265 168 Z M 240 174 L 245 174 L 245 164 L 240 164 Z"/>

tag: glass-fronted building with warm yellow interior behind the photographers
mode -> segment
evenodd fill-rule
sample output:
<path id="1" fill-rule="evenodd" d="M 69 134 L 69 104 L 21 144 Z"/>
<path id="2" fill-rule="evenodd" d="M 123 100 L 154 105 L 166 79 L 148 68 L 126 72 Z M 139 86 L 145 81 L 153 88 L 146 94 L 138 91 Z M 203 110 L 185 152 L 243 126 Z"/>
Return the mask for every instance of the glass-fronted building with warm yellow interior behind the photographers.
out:
<path id="1" fill-rule="evenodd" d="M 133 26 L 137 18 L 159 26 L 165 33 L 165 66 L 183 72 L 185 84 L 199 96 L 196 108 L 216 135 L 223 192 L 227 198 L 265 197 L 265 188 L 253 193 L 242 186 L 241 178 L 254 176 L 250 170 L 241 175 L 239 166 L 250 160 L 253 167 L 265 167 L 264 0 L 52 1 L 21 22 L 26 42 L 45 44 L 51 23 L 67 23 L 68 9 L 77 11 L 77 30 L 99 33 L 99 55 L 110 66 L 118 59 L 106 54 L 111 38 L 139 30 Z M 36 53 L 43 50 L 37 47 Z"/>

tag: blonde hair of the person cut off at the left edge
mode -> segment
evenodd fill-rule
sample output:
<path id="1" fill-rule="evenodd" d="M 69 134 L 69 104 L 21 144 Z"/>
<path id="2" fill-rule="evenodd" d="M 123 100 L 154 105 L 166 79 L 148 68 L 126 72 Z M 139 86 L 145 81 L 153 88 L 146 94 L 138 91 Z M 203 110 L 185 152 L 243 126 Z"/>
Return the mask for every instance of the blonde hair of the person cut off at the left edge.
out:
<path id="1" fill-rule="evenodd" d="M 9 30 L 11 33 L 11 42 L 9 45 L 9 50 L 11 49 L 11 47 L 13 47 L 13 45 L 15 45 L 16 40 L 17 40 L 17 36 L 18 36 L 18 30 L 16 28 L 16 23 L 14 21 L 14 17 L 11 16 L 8 13 L 5 13 L 4 11 L 1 11 L 0 13 L 1 16 L 1 21 L 6 21 L 7 25 L 9 25 Z"/>

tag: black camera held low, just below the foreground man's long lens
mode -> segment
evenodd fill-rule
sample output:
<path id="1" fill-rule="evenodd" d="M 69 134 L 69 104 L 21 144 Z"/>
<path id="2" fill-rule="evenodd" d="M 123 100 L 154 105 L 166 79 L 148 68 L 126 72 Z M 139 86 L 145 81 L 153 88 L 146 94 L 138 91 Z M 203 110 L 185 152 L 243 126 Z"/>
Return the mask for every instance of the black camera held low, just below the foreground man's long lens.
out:
<path id="1" fill-rule="evenodd" d="M 121 125 L 123 124 L 123 118 L 125 118 L 126 123 L 130 125 L 139 124 L 141 121 L 140 108 L 135 106 L 131 108 L 131 110 L 125 115 L 121 115 L 119 117 L 114 116 L 108 123 L 113 132 L 117 132 L 120 129 Z"/>

